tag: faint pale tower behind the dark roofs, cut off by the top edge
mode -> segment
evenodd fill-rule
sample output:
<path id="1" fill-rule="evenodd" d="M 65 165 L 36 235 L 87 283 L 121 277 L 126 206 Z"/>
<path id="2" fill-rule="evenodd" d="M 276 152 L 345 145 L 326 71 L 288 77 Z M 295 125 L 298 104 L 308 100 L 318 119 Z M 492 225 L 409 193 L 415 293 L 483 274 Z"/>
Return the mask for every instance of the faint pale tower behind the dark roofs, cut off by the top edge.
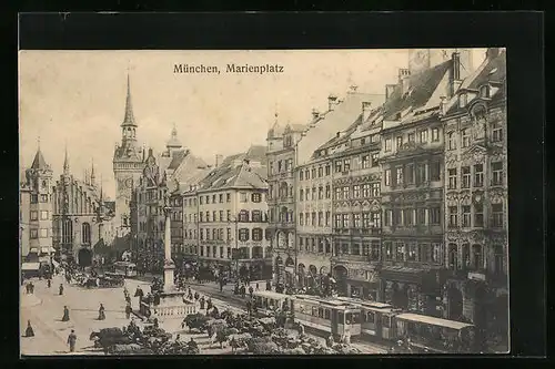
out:
<path id="1" fill-rule="evenodd" d="M 454 52 L 460 54 L 460 78 L 464 79 L 473 71 L 471 49 L 412 49 L 408 51 L 408 70 L 411 74 L 416 74 L 451 60 Z"/>

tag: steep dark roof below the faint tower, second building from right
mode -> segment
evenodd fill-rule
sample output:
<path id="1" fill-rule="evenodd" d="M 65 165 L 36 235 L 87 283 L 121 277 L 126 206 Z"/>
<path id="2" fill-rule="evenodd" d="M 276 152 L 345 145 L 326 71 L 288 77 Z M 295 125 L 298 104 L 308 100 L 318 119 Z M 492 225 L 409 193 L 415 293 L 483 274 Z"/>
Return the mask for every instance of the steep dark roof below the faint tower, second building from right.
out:
<path id="1" fill-rule="evenodd" d="M 425 106 L 452 64 L 453 62 L 447 60 L 407 76 L 408 90 L 404 93 L 401 83 L 397 84 L 384 104 L 384 120 L 395 121 L 397 113 Z"/>

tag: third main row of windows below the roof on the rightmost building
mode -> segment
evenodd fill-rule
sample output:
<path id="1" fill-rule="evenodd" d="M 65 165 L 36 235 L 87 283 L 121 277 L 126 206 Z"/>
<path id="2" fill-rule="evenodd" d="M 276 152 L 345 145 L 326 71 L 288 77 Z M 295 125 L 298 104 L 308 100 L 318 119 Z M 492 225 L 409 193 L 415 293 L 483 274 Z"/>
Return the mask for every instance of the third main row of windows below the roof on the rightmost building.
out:
<path id="1" fill-rule="evenodd" d="M 448 226 L 450 227 L 484 227 L 484 204 L 462 205 L 461 213 L 457 206 L 450 206 L 448 212 Z M 458 216 L 461 214 L 462 223 L 458 224 Z M 491 207 L 491 222 L 488 226 L 500 228 L 503 227 L 503 204 L 492 204 Z M 471 222 L 472 221 L 472 222 Z"/>

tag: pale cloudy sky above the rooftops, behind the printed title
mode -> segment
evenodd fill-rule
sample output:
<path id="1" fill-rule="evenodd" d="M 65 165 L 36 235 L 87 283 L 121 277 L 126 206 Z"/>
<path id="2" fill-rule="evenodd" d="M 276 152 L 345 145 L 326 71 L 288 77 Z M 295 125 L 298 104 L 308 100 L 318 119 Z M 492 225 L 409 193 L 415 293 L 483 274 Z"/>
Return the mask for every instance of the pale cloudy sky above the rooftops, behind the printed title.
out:
<path id="1" fill-rule="evenodd" d="M 474 65 L 484 59 L 474 50 Z M 54 176 L 67 144 L 72 173 L 83 176 L 92 160 L 97 178 L 114 195 L 112 156 L 121 140 L 125 83 L 141 144 L 164 148 L 173 125 L 184 146 L 209 164 L 216 154 L 265 144 L 274 113 L 283 124 L 305 123 L 324 111 L 330 93 L 383 93 L 407 68 L 406 50 L 326 51 L 21 51 L 20 165 L 40 147 Z M 173 65 L 215 65 L 221 74 L 174 74 Z M 229 74 L 228 63 L 283 65 L 281 74 Z"/>

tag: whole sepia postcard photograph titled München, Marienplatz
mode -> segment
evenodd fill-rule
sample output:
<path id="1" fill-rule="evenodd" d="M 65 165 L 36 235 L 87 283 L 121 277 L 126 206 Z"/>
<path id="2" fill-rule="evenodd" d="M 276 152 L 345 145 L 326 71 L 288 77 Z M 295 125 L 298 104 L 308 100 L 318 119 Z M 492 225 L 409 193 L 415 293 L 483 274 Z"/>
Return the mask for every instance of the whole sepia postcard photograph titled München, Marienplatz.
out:
<path id="1" fill-rule="evenodd" d="M 18 59 L 21 357 L 509 352 L 505 48 Z"/>

